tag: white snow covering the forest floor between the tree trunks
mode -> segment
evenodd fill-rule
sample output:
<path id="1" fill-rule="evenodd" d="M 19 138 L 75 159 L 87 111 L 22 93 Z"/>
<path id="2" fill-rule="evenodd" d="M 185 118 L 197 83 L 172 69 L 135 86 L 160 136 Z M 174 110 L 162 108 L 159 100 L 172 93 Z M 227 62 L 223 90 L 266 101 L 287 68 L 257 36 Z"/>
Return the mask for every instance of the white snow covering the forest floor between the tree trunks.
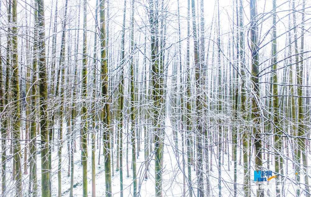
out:
<path id="1" fill-rule="evenodd" d="M 173 143 L 173 134 L 170 125 L 170 121 L 166 120 L 166 129 L 165 129 L 165 146 L 164 146 L 164 162 L 163 162 L 163 196 L 182 196 L 183 192 L 183 172 L 182 172 L 182 155 L 179 154 L 179 158 L 175 157 L 174 153 L 174 143 Z M 179 134 L 180 135 L 180 134 Z M 133 185 L 132 185 L 132 170 L 131 170 L 131 144 L 129 145 L 129 177 L 126 177 L 126 136 L 123 135 L 123 196 L 129 197 L 132 196 L 133 192 Z M 81 151 L 78 149 L 78 141 L 77 141 L 77 152 L 74 153 L 74 189 L 73 195 L 75 197 L 82 196 L 82 165 L 81 165 Z M 91 145 L 88 147 L 88 194 L 91 196 Z M 102 148 L 102 146 L 101 146 Z M 141 143 L 141 151 L 140 156 L 137 159 L 137 183 L 139 185 L 139 195 L 142 197 L 145 196 L 155 196 L 155 161 L 154 156 L 151 160 L 150 170 L 148 171 L 148 179 L 144 178 L 144 170 L 145 170 L 145 159 L 144 159 L 144 144 Z M 185 147 L 184 147 L 185 148 Z M 181 137 L 179 136 L 179 149 L 181 152 Z M 231 154 L 231 146 L 229 147 L 230 154 Z M 104 174 L 104 157 L 103 155 L 100 156 L 100 165 L 98 165 L 98 151 L 96 149 L 96 196 L 101 197 L 105 196 L 105 174 Z M 216 152 L 216 147 L 214 149 Z M 68 153 L 67 153 L 67 142 L 64 142 L 63 146 L 63 157 L 62 157 L 62 196 L 68 197 L 69 196 L 69 189 L 70 189 L 70 176 L 68 177 Z M 102 150 L 101 150 L 102 152 Z M 238 196 L 244 196 L 243 192 L 243 166 L 239 165 L 239 150 L 238 150 L 238 165 L 237 165 L 237 194 Z M 253 154 L 253 153 L 252 153 Z M 41 188 L 41 163 L 40 163 L 40 154 L 37 155 L 37 169 L 38 169 L 38 189 L 40 191 Z M 52 154 L 52 197 L 58 196 L 58 176 L 57 176 L 57 167 L 58 167 L 58 157 L 57 157 L 57 146 L 54 146 L 53 154 Z M 221 194 L 224 197 L 233 196 L 233 168 L 234 164 L 231 161 L 230 155 L 230 171 L 228 170 L 228 155 L 224 155 L 224 165 L 221 165 Z M 179 160 L 179 162 L 177 162 Z M 185 166 L 185 173 L 186 177 L 188 176 L 187 172 L 187 158 L 186 166 Z M 217 158 L 214 154 L 214 158 L 212 159 L 212 171 L 210 171 L 210 182 L 211 182 L 211 196 L 218 196 L 219 189 L 218 189 L 218 162 Z M 256 185 L 253 181 L 254 177 L 254 167 L 253 161 L 251 162 L 251 170 L 250 170 L 250 179 L 252 185 L 252 196 L 255 196 L 256 193 Z M 266 165 L 266 160 L 264 160 L 264 165 Z M 243 164 L 243 158 L 242 158 Z M 204 164 L 205 165 L 205 164 Z M 310 167 L 309 167 L 310 168 Z M 194 188 L 193 196 L 197 196 L 197 186 L 196 186 L 196 171 L 194 167 L 191 167 L 191 174 L 192 174 L 192 186 Z M 270 165 L 270 170 L 273 171 L 274 166 Z M 285 170 L 286 171 L 286 167 Z M 310 171 L 308 169 L 308 171 Z M 302 171 L 301 171 L 302 172 Z M 285 173 L 286 174 L 286 173 Z M 27 195 L 28 192 L 28 177 L 29 175 L 23 175 L 23 192 L 24 196 Z M 285 183 L 283 187 L 284 196 L 295 196 L 295 171 L 292 169 L 292 164 L 288 164 L 287 176 L 285 176 Z M 204 174 L 204 187 L 205 187 L 205 180 L 206 174 Z M 304 182 L 303 176 L 301 176 L 302 182 Z M 267 185 L 267 183 L 269 185 Z M 266 196 L 275 196 L 276 192 L 276 179 L 272 179 L 271 181 L 264 182 L 266 185 L 265 195 Z M 303 185 L 301 185 L 303 187 Z M 12 181 L 12 159 L 7 162 L 7 188 L 8 189 L 8 196 L 14 196 L 14 183 Z M 205 190 L 205 189 L 204 189 Z M 114 144 L 114 176 L 112 176 L 112 193 L 114 197 L 118 197 L 120 195 L 120 172 L 116 171 L 116 144 Z M 205 190 L 206 191 L 206 190 Z M 39 195 L 40 196 L 39 192 Z M 188 180 L 186 179 L 186 196 L 188 196 Z M 305 196 L 305 192 L 302 192 L 301 196 Z"/>

